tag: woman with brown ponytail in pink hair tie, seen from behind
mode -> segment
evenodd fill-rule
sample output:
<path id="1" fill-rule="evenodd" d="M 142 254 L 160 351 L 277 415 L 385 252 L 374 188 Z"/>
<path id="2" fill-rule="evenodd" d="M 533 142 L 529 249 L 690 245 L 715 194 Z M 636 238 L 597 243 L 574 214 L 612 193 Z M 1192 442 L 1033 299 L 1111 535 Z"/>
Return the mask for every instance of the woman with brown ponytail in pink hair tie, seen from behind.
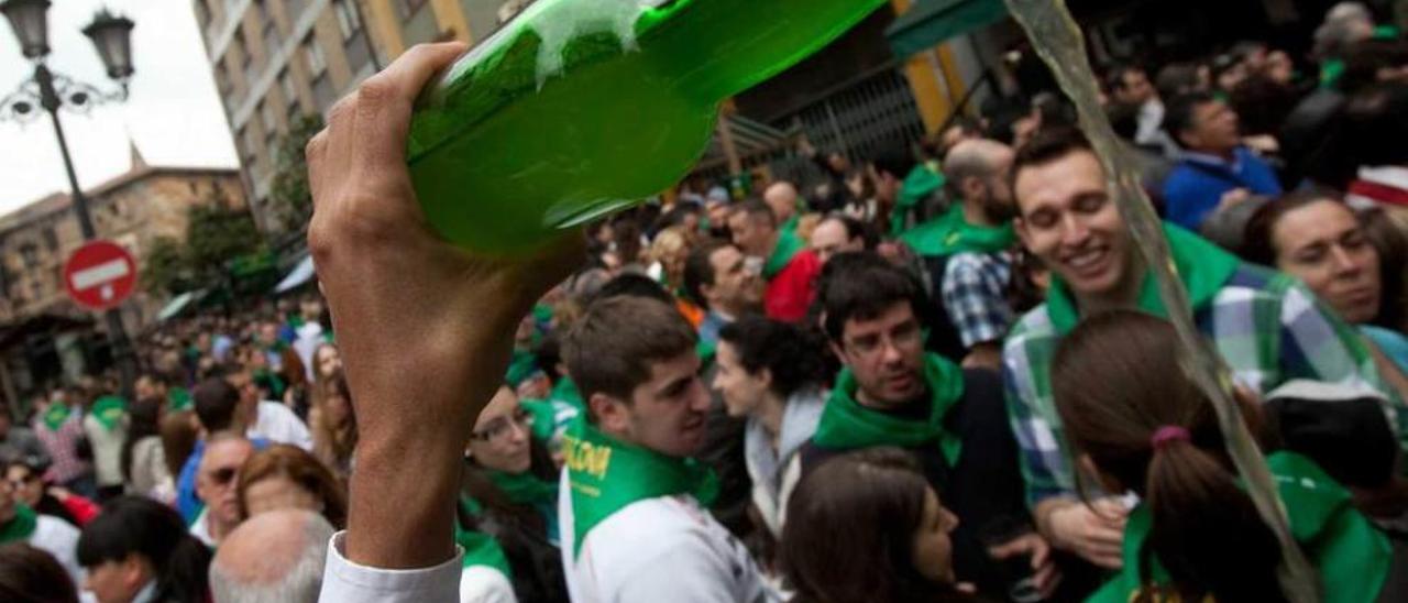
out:
<path id="1" fill-rule="evenodd" d="M 1052 390 L 1080 466 L 1104 492 L 1140 500 L 1125 524 L 1121 573 L 1090 600 L 1284 602 L 1280 545 L 1178 354 L 1171 325 L 1133 311 L 1083 320 L 1056 352 Z M 1260 409 L 1243 407 L 1257 433 Z M 1267 464 L 1322 600 L 1377 600 L 1388 540 L 1314 461 L 1281 451 Z"/>

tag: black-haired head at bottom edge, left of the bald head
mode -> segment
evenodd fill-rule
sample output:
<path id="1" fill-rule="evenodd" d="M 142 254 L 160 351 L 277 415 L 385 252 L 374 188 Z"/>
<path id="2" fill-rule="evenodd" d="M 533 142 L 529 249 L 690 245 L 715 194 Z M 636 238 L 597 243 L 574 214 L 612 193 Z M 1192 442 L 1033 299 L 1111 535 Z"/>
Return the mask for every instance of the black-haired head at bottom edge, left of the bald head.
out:
<path id="1" fill-rule="evenodd" d="M 103 506 L 79 537 L 84 590 L 99 603 L 203 603 L 210 599 L 210 549 L 172 507 L 144 496 Z"/>

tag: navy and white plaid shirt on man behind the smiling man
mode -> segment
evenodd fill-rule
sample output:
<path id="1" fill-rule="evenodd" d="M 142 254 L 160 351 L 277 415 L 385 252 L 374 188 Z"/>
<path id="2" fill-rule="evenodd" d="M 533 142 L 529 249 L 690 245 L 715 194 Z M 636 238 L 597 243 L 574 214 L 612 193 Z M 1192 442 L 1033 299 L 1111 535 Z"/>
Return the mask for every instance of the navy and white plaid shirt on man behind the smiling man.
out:
<path id="1" fill-rule="evenodd" d="M 1007 283 L 1012 278 L 1010 252 L 955 254 L 943 266 L 941 296 L 964 348 L 1001 341 L 1012 324 Z"/>

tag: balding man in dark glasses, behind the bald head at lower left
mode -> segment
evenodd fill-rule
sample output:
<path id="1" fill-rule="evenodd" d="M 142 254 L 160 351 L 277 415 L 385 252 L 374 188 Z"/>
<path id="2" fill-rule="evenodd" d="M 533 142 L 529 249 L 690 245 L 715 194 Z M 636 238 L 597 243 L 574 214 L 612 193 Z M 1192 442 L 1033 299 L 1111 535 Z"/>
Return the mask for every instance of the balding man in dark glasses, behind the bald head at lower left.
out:
<path id="1" fill-rule="evenodd" d="M 235 482 L 239 466 L 255 452 L 255 445 L 232 433 L 215 434 L 206 441 L 206 455 L 196 475 L 196 496 L 206 511 L 190 527 L 190 534 L 215 547 L 239 526 L 239 495 Z"/>

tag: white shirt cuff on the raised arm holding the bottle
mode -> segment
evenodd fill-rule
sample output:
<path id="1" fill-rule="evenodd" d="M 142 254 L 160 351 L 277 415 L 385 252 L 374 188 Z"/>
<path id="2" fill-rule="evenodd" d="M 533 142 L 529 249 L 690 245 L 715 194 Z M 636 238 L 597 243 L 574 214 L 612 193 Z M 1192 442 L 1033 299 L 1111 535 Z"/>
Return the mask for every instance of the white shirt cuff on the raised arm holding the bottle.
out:
<path id="1" fill-rule="evenodd" d="M 455 547 L 455 557 L 432 568 L 377 569 L 358 565 L 342 557 L 346 531 L 332 534 L 328 562 L 322 569 L 324 603 L 455 603 L 459 600 L 460 558 L 465 549 Z"/>

